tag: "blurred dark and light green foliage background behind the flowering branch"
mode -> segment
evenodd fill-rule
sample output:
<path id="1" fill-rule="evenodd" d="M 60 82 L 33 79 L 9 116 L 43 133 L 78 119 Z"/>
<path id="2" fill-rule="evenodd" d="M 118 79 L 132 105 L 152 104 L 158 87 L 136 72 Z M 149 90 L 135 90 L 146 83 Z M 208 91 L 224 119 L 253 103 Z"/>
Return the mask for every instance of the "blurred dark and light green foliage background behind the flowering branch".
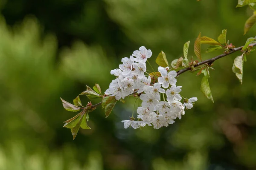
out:
<path id="1" fill-rule="evenodd" d="M 213 104 L 200 92 L 201 76 L 177 78 L 195 107 L 169 127 L 124 129 L 133 100 L 118 102 L 105 119 L 90 113 L 92 130 L 73 141 L 62 108 L 99 83 L 108 88 L 122 57 L 144 45 L 154 63 L 163 50 L 171 62 L 183 44 L 217 39 L 227 29 L 236 47 L 253 13 L 236 0 L 0 0 L 0 170 L 255 170 L 256 56 L 244 65 L 243 85 L 232 72 L 240 52 L 216 61 L 209 79 Z M 207 46 L 203 46 L 205 51 Z M 221 54 L 203 54 L 203 59 Z M 154 67 L 157 65 L 154 63 Z M 83 103 L 89 100 L 81 96 Z M 99 101 L 93 101 L 95 104 Z"/>

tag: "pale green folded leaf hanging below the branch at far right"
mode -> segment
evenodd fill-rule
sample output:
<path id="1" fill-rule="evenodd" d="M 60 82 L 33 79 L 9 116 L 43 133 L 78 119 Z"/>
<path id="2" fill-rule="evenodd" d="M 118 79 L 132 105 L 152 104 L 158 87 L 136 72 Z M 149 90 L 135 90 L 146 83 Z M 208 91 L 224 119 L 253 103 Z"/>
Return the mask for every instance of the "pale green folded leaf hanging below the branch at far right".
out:
<path id="1" fill-rule="evenodd" d="M 232 71 L 233 71 L 233 73 L 236 74 L 236 77 L 239 79 L 241 84 L 243 84 L 243 68 L 244 68 L 243 56 L 236 57 L 234 60 Z"/>

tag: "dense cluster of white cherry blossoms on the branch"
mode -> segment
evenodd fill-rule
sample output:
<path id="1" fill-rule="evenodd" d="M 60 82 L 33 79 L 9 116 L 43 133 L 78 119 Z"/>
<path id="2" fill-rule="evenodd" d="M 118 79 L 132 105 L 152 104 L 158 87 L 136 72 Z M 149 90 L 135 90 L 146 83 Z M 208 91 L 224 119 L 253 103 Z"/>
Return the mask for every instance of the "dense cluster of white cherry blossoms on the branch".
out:
<path id="1" fill-rule="evenodd" d="M 131 126 L 137 129 L 146 125 L 153 125 L 155 129 L 167 127 L 176 118 L 181 119 L 181 115 L 185 114 L 184 109 L 191 109 L 197 101 L 196 97 L 192 97 L 184 98 L 184 103 L 181 103 L 183 97 L 179 93 L 182 86 L 176 86 L 177 73 L 169 67 L 158 67 L 161 76 L 152 73 L 157 79 L 151 79 L 146 72 L 146 62 L 151 56 L 151 50 L 142 46 L 130 58 L 122 58 L 119 68 L 111 70 L 116 79 L 110 83 L 105 95 L 115 96 L 119 100 L 137 94 L 142 100 L 141 106 L 137 108 L 137 120 L 132 116 L 129 120 L 122 121 L 125 128 Z"/>

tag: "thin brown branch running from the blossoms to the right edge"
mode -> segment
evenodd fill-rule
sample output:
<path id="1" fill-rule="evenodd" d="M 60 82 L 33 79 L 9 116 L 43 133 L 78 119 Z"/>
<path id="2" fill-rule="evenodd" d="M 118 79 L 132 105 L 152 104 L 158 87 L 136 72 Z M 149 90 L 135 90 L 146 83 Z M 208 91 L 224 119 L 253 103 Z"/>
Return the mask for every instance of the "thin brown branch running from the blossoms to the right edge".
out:
<path id="1" fill-rule="evenodd" d="M 253 43 L 253 44 L 250 44 L 250 46 L 255 46 L 255 45 L 256 45 L 256 42 Z M 230 52 L 227 53 L 227 54 L 226 54 L 226 53 L 225 53 L 225 54 L 221 54 L 221 55 L 218 55 L 218 56 L 213 57 L 213 58 L 211 58 L 211 59 L 207 59 L 207 60 L 204 60 L 204 61 L 202 61 L 202 62 L 198 62 L 196 65 L 194 65 L 194 67 L 198 67 L 199 65 L 203 65 L 203 64 L 206 64 L 206 63 L 212 63 L 212 62 L 214 62 L 214 61 L 217 60 L 217 59 L 220 59 L 220 58 L 222 58 L 222 57 L 225 57 L 225 56 L 227 56 L 227 55 L 230 55 L 230 54 L 232 54 L 232 53 L 234 53 L 234 52 L 236 52 L 236 51 L 240 51 L 242 48 L 243 48 L 243 46 L 238 47 L 238 48 L 233 48 L 233 50 L 230 51 Z M 182 74 L 182 73 L 185 73 L 186 71 L 189 71 L 189 70 L 191 70 L 191 67 L 183 68 L 183 69 L 177 71 L 177 76 L 180 75 L 180 74 Z"/>

